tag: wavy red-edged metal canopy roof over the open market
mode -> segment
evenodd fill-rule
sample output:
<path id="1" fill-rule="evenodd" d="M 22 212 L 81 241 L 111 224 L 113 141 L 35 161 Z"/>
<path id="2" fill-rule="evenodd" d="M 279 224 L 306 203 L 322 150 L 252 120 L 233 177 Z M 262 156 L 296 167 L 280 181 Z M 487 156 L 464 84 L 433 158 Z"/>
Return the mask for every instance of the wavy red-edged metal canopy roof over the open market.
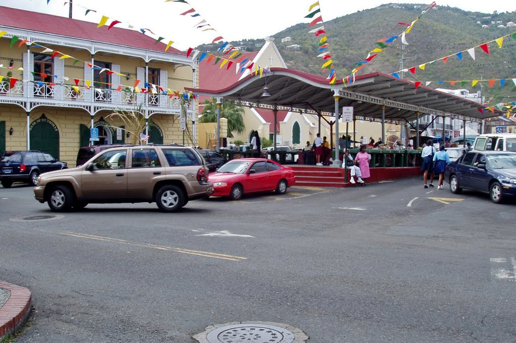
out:
<path id="1" fill-rule="evenodd" d="M 263 96 L 264 87 L 270 96 Z M 270 68 L 260 75 L 254 72 L 229 87 L 217 90 L 187 88 L 198 95 L 231 99 L 237 105 L 335 116 L 334 96 L 338 108 L 353 107 L 356 119 L 382 118 L 385 122 L 400 123 L 433 114 L 437 116 L 482 119 L 502 114 L 498 109 L 486 109 L 478 102 L 454 94 L 436 91 L 422 84 L 372 73 L 357 77 L 351 84 L 342 80 L 329 84 L 324 77 L 286 68 Z"/>

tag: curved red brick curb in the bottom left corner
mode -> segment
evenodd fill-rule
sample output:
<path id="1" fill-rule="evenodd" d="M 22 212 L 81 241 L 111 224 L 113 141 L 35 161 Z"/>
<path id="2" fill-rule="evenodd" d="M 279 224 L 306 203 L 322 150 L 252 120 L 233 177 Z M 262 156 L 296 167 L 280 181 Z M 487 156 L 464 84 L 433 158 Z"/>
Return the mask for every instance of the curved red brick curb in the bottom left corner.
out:
<path id="1" fill-rule="evenodd" d="M 28 320 L 32 294 L 25 287 L 0 281 L 0 288 L 11 291 L 5 304 L 0 307 L 0 339 L 14 334 Z"/>

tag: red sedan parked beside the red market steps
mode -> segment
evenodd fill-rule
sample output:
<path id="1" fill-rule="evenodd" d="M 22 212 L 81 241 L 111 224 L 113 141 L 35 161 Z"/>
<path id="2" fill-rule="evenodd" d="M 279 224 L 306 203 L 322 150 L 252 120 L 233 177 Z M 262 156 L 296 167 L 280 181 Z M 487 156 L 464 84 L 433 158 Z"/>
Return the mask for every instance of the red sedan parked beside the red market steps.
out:
<path id="1" fill-rule="evenodd" d="M 209 174 L 212 196 L 240 200 L 244 193 L 274 191 L 285 194 L 296 183 L 294 170 L 268 159 L 231 160 Z"/>

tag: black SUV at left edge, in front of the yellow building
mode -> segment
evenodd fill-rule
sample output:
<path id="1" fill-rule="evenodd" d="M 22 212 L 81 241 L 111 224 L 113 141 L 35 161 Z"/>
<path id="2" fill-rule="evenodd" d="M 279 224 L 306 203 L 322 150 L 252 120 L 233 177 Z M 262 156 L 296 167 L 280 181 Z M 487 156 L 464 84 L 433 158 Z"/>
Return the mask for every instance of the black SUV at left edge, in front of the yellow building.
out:
<path id="1" fill-rule="evenodd" d="M 66 162 L 57 161 L 43 151 L 7 151 L 0 158 L 0 181 L 4 188 L 9 188 L 13 182 L 36 186 L 40 174 L 66 168 Z"/>

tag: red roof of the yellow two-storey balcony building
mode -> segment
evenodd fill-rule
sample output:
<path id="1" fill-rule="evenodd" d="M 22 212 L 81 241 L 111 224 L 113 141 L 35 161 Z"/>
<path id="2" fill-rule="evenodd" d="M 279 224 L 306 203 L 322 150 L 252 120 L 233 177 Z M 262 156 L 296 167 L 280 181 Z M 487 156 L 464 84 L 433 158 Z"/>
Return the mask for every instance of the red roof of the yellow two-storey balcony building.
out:
<path id="1" fill-rule="evenodd" d="M 97 24 L 62 16 L 25 11 L 0 6 L 3 26 L 10 26 L 29 31 L 47 32 L 64 37 L 76 37 L 90 41 L 125 45 L 159 52 L 165 51 L 163 43 L 154 44 L 155 39 L 135 30 L 107 26 L 97 28 Z M 185 55 L 178 49 L 170 47 L 167 53 Z"/>

